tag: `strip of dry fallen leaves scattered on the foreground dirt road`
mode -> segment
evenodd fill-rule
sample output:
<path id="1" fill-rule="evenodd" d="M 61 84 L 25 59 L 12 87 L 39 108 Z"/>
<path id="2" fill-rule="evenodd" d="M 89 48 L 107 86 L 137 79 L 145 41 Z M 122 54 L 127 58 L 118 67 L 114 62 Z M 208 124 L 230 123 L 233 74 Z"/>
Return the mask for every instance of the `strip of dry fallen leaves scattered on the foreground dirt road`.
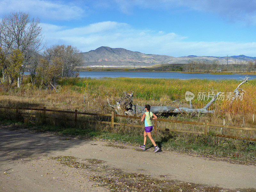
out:
<path id="1" fill-rule="evenodd" d="M 98 159 L 85 159 L 89 164 L 77 162 L 73 156 L 57 156 L 52 159 L 60 161 L 69 167 L 86 168 L 97 174 L 87 177 L 95 181 L 94 186 L 108 188 L 111 192 L 234 192 L 218 187 L 209 187 L 195 183 L 167 180 L 164 175 L 155 179 L 140 173 L 126 173 L 116 168 L 100 165 L 104 161 Z M 242 189 L 240 189 L 243 192 Z M 247 191 L 246 191 L 247 192 Z M 254 191 L 250 191 L 254 192 Z"/>

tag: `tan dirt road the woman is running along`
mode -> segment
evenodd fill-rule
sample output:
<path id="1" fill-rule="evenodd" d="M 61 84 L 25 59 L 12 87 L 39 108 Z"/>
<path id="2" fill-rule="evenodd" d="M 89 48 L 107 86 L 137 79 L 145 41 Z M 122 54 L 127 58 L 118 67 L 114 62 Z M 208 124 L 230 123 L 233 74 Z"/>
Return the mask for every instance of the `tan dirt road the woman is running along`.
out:
<path id="1" fill-rule="evenodd" d="M 107 141 L 80 140 L 0 127 L 0 192 L 109 191 L 106 187 L 98 186 L 93 179 L 88 179 L 96 174 L 97 169 L 103 170 L 102 167 L 106 172 L 115 168 L 152 178 L 224 189 L 256 188 L 255 165 L 231 164 L 170 151 L 152 151 L 153 148 L 142 151 L 137 146 L 118 146 Z M 88 169 L 65 166 L 51 158 L 57 156 L 76 157 L 76 162 L 82 165 L 87 163 Z M 89 169 L 88 159 L 101 160 L 102 164 L 96 162 L 98 167 Z"/>

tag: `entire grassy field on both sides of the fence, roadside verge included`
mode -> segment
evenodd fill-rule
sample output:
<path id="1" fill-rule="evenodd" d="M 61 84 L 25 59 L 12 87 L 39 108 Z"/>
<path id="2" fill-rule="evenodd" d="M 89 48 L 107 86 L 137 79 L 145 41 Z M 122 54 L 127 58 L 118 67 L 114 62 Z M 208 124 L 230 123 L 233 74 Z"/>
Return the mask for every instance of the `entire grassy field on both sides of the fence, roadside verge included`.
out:
<path id="1" fill-rule="evenodd" d="M 26 83 L 26 81 L 25 81 Z M 210 92 L 210 89 L 220 92 L 233 92 L 239 84 L 236 80 L 179 80 L 179 79 L 150 79 L 150 78 L 72 78 L 62 79 L 59 84 L 59 92 L 54 90 L 41 90 L 31 84 L 24 84 L 20 89 L 15 87 L 8 88 L 0 84 L 0 105 L 34 108 L 49 108 L 60 110 L 78 109 L 78 111 L 110 113 L 113 109 L 108 106 L 108 101 L 115 104 L 115 98 L 119 98 L 122 92 L 128 91 L 132 87 L 134 91 L 134 104 L 151 106 L 169 105 L 175 101 L 173 106 L 188 107 L 189 104 L 185 99 L 185 92 L 190 91 L 195 94 L 199 92 Z M 249 84 L 243 84 L 246 93 L 243 100 L 235 100 L 230 107 L 228 100 L 216 100 L 210 109 L 215 109 L 214 114 L 195 115 L 181 114 L 178 116 L 162 116 L 159 118 L 169 118 L 182 121 L 196 121 L 222 124 L 225 119 L 226 125 L 235 125 L 243 127 L 256 127 L 255 122 L 252 123 L 252 114 L 256 110 L 256 80 L 250 80 Z M 192 101 L 194 108 L 202 108 L 209 100 Z M 225 110 L 223 110 L 225 109 Z M 26 111 L 23 111 L 24 113 Z M 66 134 L 79 137 L 92 137 L 104 140 L 116 140 L 128 143 L 141 143 L 141 128 L 129 128 L 125 126 L 115 126 L 111 129 L 108 125 L 100 124 L 81 124 L 78 127 L 65 119 L 68 116 L 54 116 L 45 124 L 42 119 L 22 118 L 20 122 L 15 120 L 14 110 L 4 110 L 1 112 L 2 123 L 12 123 L 18 126 L 25 126 L 30 129 L 40 131 L 52 131 L 58 134 Z M 78 117 L 82 118 L 82 117 Z M 60 120 L 61 119 L 61 120 Z M 13 122 L 13 120 L 15 120 Z M 116 119 L 116 121 L 125 123 L 125 119 Z M 178 127 L 177 124 L 161 124 L 161 126 Z M 183 126 L 180 129 L 186 129 Z M 199 127 L 191 127 L 189 129 L 202 129 Z M 212 133 L 219 132 L 213 129 Z M 235 132 L 238 136 L 246 136 L 244 132 Z M 250 137 L 255 137 L 255 133 L 246 133 Z M 163 149 L 178 150 L 186 152 L 194 152 L 199 154 L 211 154 L 218 156 L 228 156 L 240 159 L 255 160 L 256 145 L 255 142 L 234 139 L 219 139 L 211 135 L 198 136 L 183 133 L 155 132 L 156 142 Z M 150 143 L 147 143 L 150 145 Z M 237 155 L 238 154 L 238 155 Z"/>

